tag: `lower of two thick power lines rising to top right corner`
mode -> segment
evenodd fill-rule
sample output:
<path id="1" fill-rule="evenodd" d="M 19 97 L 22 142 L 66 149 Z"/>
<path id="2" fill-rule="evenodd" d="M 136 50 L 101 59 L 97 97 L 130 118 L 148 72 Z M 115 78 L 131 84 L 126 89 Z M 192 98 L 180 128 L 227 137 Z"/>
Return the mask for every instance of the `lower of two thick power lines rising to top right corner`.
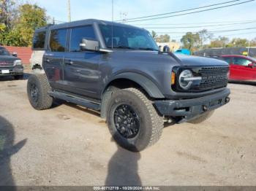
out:
<path id="1" fill-rule="evenodd" d="M 182 13 L 182 14 L 178 14 L 178 15 L 170 15 L 170 16 L 165 16 L 165 17 L 154 17 L 154 18 L 141 19 L 141 20 L 126 20 L 126 21 L 123 21 L 122 23 L 131 23 L 131 22 L 138 22 L 138 21 L 143 21 L 143 20 L 157 20 L 157 19 L 168 18 L 168 17 L 178 17 L 178 16 L 183 16 L 183 15 L 190 15 L 190 14 L 195 14 L 195 13 L 198 13 L 198 12 L 206 12 L 206 11 L 210 11 L 210 10 L 214 10 L 214 9 L 222 9 L 222 8 L 225 8 L 225 7 L 233 7 L 233 6 L 236 6 L 238 4 L 246 4 L 246 3 L 249 3 L 249 2 L 252 2 L 252 1 L 255 1 L 255 0 L 243 1 L 243 2 L 240 2 L 240 3 L 236 3 L 236 4 L 229 4 L 229 5 L 225 5 L 225 6 L 222 6 L 222 7 L 214 7 L 214 8 L 211 8 L 211 9 L 203 9 L 203 10 L 200 10 L 200 11 L 187 12 L 187 13 Z"/>

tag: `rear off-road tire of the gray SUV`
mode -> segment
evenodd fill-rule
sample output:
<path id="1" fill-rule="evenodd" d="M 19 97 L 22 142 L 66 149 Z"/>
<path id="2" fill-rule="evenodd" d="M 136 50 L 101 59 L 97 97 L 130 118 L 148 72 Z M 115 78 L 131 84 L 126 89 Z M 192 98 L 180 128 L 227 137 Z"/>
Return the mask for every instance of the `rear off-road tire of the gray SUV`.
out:
<path id="1" fill-rule="evenodd" d="M 31 95 L 31 90 L 33 87 L 38 90 L 37 98 L 33 98 Z M 53 104 L 53 98 L 48 95 L 51 90 L 48 79 L 45 74 L 32 74 L 29 77 L 27 85 L 27 94 L 29 97 L 29 102 L 34 109 L 44 110 L 49 109 Z"/>

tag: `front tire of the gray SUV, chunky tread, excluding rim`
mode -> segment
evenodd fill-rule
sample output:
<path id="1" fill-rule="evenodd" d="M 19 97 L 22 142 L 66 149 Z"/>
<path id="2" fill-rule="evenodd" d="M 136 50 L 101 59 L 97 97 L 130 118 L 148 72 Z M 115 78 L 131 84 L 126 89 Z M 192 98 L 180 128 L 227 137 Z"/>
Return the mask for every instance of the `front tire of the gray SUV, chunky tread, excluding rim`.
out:
<path id="1" fill-rule="evenodd" d="M 122 136 L 115 125 L 115 110 L 122 104 L 131 106 L 140 119 L 138 134 L 131 139 Z M 140 152 L 146 147 L 155 144 L 159 140 L 164 127 L 164 120 L 154 109 L 152 101 L 135 88 L 116 90 L 113 93 L 107 106 L 107 122 L 113 139 L 121 147 L 132 152 Z"/>

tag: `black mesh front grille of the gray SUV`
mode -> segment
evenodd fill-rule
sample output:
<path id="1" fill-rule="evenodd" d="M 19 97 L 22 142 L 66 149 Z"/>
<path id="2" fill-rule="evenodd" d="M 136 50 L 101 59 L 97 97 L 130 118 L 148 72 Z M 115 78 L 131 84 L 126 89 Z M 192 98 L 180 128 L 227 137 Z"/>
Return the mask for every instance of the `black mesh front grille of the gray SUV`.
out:
<path id="1" fill-rule="evenodd" d="M 198 75 L 202 77 L 197 90 L 211 90 L 227 86 L 228 66 L 203 67 L 199 69 Z"/>

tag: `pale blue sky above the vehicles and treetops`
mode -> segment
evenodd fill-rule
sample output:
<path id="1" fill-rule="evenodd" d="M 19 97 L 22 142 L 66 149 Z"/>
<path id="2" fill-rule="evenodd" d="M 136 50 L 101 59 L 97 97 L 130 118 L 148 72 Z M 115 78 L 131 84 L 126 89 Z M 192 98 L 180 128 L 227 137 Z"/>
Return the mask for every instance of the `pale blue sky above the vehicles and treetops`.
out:
<path id="1" fill-rule="evenodd" d="M 70 0 L 71 1 L 71 17 L 72 20 L 83 20 L 88 18 L 97 18 L 100 20 L 111 20 L 111 0 Z M 142 17 L 147 15 L 157 15 L 165 12 L 173 12 L 182 9 L 189 9 L 194 7 L 202 7 L 208 4 L 222 3 L 228 0 L 114 0 L 114 20 L 120 20 L 121 13 L 127 14 L 126 18 Z M 246 1 L 246 0 L 244 0 Z M 32 3 L 37 3 L 40 7 L 44 7 L 50 17 L 54 17 L 56 20 L 67 21 L 67 0 L 30 0 Z M 208 12 L 200 12 L 193 15 L 183 15 L 178 17 L 169 17 L 159 20 L 140 21 L 135 23 L 129 23 L 131 25 L 147 27 L 171 27 L 171 26 L 159 26 L 159 24 L 181 24 L 192 23 L 190 25 L 184 24 L 183 26 L 206 26 L 206 25 L 218 25 L 214 22 L 223 21 L 239 21 L 244 20 L 256 20 L 256 1 L 249 2 L 247 4 L 236 5 L 234 7 L 227 7 L 223 9 L 215 9 Z M 238 22 L 237 22 L 238 21 Z M 211 22 L 213 24 L 207 24 Z M 203 24 L 194 24 L 203 23 Z M 206 23 L 206 24 L 205 24 Z M 148 26 L 148 24 L 156 24 L 156 26 Z M 223 23 L 219 23 L 223 24 Z M 217 36 L 244 37 L 253 39 L 256 37 L 256 21 L 254 23 L 247 23 L 243 25 L 231 25 L 231 26 L 208 26 L 200 28 L 148 28 L 148 31 L 168 32 L 178 34 L 170 34 L 172 39 L 179 41 L 183 34 L 179 32 L 186 31 L 199 31 L 203 28 L 208 31 L 219 30 L 233 30 L 242 28 L 255 28 L 246 31 L 229 31 L 225 33 L 216 33 Z M 249 34 L 251 33 L 251 34 Z"/>

